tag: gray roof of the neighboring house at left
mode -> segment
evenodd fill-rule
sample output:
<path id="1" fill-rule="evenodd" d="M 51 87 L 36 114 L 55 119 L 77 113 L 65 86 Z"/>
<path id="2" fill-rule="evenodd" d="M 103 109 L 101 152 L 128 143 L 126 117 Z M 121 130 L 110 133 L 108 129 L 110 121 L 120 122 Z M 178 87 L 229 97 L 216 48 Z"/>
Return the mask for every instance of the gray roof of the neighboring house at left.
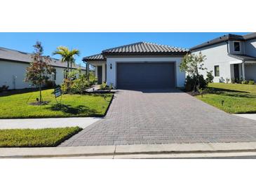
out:
<path id="1" fill-rule="evenodd" d="M 54 67 L 66 67 L 67 64 L 65 62 L 61 62 L 55 58 L 51 58 L 50 64 Z M 9 48 L 2 48 L 0 47 L 0 60 L 11 60 L 11 61 L 18 61 L 18 62 L 32 62 L 32 53 L 25 53 L 19 50 L 12 50 Z M 73 66 L 74 69 L 79 68 L 78 64 Z M 81 67 L 81 69 L 86 69 L 85 67 Z"/>

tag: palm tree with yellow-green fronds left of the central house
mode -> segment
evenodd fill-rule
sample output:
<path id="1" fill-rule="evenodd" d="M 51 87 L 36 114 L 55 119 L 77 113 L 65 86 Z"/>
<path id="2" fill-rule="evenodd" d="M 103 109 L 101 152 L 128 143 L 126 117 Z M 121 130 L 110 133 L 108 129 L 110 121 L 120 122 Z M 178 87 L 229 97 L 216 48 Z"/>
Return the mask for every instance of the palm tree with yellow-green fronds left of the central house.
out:
<path id="1" fill-rule="evenodd" d="M 74 63 L 74 56 L 79 56 L 80 52 L 78 49 L 69 50 L 65 46 L 58 46 L 57 50 L 53 52 L 53 55 L 60 55 L 62 62 L 67 62 L 67 72 L 69 72 L 69 64 L 72 71 L 72 64 Z"/>

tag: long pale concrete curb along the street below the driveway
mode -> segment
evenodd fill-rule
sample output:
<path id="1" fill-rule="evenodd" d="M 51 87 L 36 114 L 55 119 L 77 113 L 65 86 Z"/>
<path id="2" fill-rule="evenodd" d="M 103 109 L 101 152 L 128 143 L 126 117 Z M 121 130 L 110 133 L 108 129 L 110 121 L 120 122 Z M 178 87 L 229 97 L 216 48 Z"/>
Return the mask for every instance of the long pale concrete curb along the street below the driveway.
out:
<path id="1" fill-rule="evenodd" d="M 0 148 L 0 158 L 204 158 L 256 156 L 256 142 Z"/>

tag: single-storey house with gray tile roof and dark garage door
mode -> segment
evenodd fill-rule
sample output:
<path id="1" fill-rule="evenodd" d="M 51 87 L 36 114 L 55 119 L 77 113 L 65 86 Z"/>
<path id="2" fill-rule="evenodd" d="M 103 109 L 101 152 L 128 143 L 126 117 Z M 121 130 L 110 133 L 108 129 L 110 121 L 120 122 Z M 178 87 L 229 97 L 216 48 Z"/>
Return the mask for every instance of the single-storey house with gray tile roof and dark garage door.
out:
<path id="1" fill-rule="evenodd" d="M 185 73 L 180 71 L 185 48 L 139 42 L 102 50 L 83 57 L 95 66 L 98 83 L 115 88 L 175 88 L 183 87 Z"/>

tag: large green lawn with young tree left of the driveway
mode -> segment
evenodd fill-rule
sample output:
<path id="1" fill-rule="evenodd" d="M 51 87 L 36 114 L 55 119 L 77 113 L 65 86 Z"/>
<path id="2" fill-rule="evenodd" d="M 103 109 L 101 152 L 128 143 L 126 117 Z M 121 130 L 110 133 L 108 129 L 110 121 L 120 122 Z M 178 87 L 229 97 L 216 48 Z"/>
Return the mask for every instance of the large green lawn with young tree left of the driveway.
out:
<path id="1" fill-rule="evenodd" d="M 42 91 L 46 105 L 32 105 L 39 97 L 38 91 L 15 91 L 1 93 L 0 118 L 50 118 L 50 117 L 87 117 L 105 116 L 112 94 L 62 95 L 58 105 L 53 89 Z M 106 97 L 105 97 L 106 96 Z M 58 98 L 60 100 L 60 97 Z"/>

